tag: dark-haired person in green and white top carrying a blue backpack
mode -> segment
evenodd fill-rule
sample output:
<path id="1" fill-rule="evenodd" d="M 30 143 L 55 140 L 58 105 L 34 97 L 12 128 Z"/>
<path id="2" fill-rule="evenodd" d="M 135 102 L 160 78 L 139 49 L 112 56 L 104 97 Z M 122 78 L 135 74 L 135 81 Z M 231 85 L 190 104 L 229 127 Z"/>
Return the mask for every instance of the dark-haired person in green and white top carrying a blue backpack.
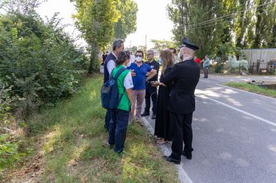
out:
<path id="1" fill-rule="evenodd" d="M 112 77 L 117 78 L 117 88 L 121 100 L 115 111 L 111 111 L 112 120 L 109 124 L 108 144 L 114 146 L 114 151 L 123 153 L 126 141 L 126 129 L 128 127 L 129 111 L 133 105 L 132 100 L 132 77 L 130 70 L 125 67 L 130 62 L 129 52 L 120 52 L 116 60 L 116 67 L 112 71 Z M 118 76 L 117 76 L 118 75 Z"/>

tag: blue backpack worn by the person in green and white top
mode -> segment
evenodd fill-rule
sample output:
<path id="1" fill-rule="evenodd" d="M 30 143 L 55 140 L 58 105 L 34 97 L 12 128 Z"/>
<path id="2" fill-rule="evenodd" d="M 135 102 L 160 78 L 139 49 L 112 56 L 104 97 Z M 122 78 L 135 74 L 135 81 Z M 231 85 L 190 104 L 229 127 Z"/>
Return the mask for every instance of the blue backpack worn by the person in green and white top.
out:
<path id="1" fill-rule="evenodd" d="M 121 75 L 122 72 L 124 72 L 126 68 L 121 68 L 115 75 L 115 77 L 112 77 L 112 73 L 114 72 L 114 69 L 112 70 L 110 74 L 110 78 L 106 83 L 103 84 L 101 87 L 101 105 L 103 108 L 108 110 L 115 110 L 117 109 L 121 98 L 124 96 L 124 93 L 119 96 L 119 91 L 117 87 L 117 79 Z"/>

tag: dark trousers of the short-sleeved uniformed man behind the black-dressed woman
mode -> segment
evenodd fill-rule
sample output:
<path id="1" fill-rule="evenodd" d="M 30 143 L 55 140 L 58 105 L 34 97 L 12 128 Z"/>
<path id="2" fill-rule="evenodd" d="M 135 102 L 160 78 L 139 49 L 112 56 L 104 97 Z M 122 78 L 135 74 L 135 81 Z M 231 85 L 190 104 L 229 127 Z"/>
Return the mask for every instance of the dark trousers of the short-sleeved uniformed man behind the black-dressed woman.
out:
<path id="1" fill-rule="evenodd" d="M 156 114 L 156 105 L 157 105 L 157 88 L 152 87 L 150 83 L 146 83 L 146 107 L 145 112 L 150 113 L 150 98 L 152 100 L 152 113 Z"/>

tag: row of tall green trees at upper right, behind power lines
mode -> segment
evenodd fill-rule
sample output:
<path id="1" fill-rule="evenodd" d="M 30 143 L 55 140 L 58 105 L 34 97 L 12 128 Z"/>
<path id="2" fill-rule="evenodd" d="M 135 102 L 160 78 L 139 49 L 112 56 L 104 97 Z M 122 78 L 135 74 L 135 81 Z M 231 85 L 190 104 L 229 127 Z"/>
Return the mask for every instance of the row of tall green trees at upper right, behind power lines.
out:
<path id="1" fill-rule="evenodd" d="M 230 47 L 276 47 L 275 0 L 172 0 L 167 6 L 174 41 L 187 36 L 199 45 L 198 56 Z M 233 50 L 233 49 L 230 49 Z"/>

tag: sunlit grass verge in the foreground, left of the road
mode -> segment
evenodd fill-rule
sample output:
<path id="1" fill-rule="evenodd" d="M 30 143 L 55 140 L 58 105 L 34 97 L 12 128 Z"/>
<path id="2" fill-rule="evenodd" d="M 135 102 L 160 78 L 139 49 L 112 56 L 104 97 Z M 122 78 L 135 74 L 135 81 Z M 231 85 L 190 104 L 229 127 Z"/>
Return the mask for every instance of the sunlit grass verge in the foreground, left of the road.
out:
<path id="1" fill-rule="evenodd" d="M 175 166 L 137 124 L 128 127 L 126 154 L 108 148 L 101 83 L 100 75 L 89 78 L 79 94 L 28 121 L 35 152 L 4 182 L 178 182 Z"/>

